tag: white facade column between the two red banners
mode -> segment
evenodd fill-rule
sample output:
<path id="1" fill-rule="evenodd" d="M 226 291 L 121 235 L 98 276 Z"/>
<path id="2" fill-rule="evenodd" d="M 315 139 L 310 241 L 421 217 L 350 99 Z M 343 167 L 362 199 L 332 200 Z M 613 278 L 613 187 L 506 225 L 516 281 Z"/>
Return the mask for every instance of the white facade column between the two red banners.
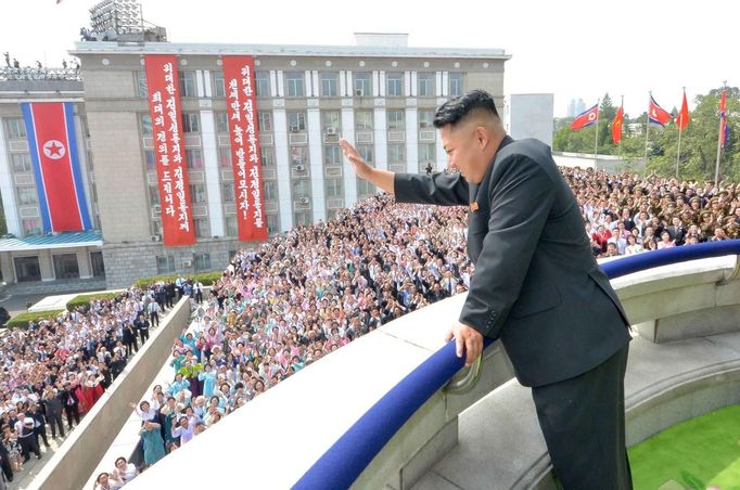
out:
<path id="1" fill-rule="evenodd" d="M 224 198 L 221 197 L 221 176 L 218 175 L 218 142 L 213 111 L 201 111 L 201 138 L 203 139 L 203 169 L 205 170 L 205 193 L 208 197 L 210 234 L 224 236 L 226 234 Z"/>

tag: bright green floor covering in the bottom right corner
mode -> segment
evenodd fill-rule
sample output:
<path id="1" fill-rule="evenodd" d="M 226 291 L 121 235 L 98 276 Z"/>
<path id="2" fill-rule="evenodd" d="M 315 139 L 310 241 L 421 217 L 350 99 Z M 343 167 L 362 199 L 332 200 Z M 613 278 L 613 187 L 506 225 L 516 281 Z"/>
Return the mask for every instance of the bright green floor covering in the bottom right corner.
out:
<path id="1" fill-rule="evenodd" d="M 740 489 L 740 405 L 668 427 L 628 452 L 636 490 Z"/>

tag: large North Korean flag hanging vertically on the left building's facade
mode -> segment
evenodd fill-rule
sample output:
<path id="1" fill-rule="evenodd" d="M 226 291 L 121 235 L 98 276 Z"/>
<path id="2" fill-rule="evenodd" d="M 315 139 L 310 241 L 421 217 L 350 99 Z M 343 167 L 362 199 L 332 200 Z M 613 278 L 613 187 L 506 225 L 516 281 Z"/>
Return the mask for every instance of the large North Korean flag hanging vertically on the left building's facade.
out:
<path id="1" fill-rule="evenodd" d="M 69 102 L 23 103 L 46 233 L 92 229 Z"/>

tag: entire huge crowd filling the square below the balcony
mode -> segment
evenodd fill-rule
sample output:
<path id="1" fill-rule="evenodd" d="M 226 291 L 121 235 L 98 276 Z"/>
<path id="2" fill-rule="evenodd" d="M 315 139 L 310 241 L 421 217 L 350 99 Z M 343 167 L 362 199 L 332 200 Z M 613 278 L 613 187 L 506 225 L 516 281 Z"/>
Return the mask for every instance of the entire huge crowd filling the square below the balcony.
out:
<path id="1" fill-rule="evenodd" d="M 561 171 L 597 257 L 740 237 L 740 185 Z M 306 365 L 409 311 L 465 292 L 474 273 L 465 241 L 465 208 L 378 195 L 328 222 L 238 253 L 205 299 L 201 284 L 180 279 L 10 332 L 0 344 L 3 446 L 11 461 L 38 453 L 38 442 L 22 438 L 33 431 L 46 440 L 46 428 L 35 422 L 39 410 L 52 437 L 54 425 L 63 435 L 62 413 L 71 427 L 177 292 L 191 296 L 192 322 L 173 347 L 171 378 L 132 402 L 142 422 L 143 464 L 119 457 L 98 478 L 100 488 L 118 488 Z"/>

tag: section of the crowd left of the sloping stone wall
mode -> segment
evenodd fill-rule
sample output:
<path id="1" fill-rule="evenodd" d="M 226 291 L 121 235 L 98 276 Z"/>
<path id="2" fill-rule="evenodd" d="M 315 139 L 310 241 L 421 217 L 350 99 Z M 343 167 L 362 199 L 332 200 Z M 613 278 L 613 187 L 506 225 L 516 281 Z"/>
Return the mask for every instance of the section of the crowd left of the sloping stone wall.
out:
<path id="1" fill-rule="evenodd" d="M 150 314 L 171 306 L 173 287 L 132 287 L 0 338 L 0 463 L 12 481 L 41 442 L 64 439 L 149 339 Z M 173 293 L 174 295 L 175 293 Z M 158 302 L 157 302 L 158 301 Z M 156 305 L 153 307 L 152 305 Z M 64 418 L 66 418 L 66 424 Z M 66 428 L 65 428 L 66 426 Z"/>

